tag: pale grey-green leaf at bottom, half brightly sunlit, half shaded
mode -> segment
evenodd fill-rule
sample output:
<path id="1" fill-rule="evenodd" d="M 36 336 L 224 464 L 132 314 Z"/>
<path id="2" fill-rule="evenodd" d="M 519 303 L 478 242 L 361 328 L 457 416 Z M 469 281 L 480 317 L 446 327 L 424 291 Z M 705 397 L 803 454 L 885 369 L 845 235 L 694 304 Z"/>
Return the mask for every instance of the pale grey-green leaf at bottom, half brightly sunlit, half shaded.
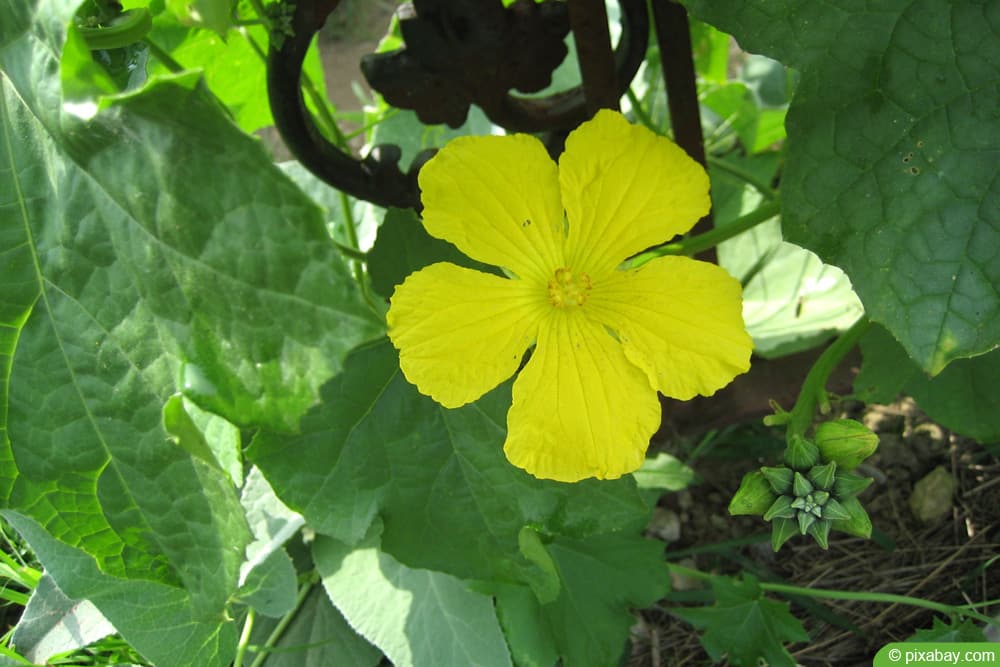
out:
<path id="1" fill-rule="evenodd" d="M 330 600 L 393 665 L 511 665 L 491 598 L 377 545 L 377 535 L 357 547 L 320 536 L 313 555 Z"/>

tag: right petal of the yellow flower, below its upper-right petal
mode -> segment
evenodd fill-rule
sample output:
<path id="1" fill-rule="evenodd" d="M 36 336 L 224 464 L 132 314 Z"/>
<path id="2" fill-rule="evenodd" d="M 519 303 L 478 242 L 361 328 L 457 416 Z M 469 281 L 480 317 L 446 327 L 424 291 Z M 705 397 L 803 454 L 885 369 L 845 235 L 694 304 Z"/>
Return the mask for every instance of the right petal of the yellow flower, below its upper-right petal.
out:
<path id="1" fill-rule="evenodd" d="M 742 290 L 725 270 L 660 257 L 595 283 L 587 310 L 614 330 L 625 355 L 667 396 L 710 396 L 750 368 Z"/>

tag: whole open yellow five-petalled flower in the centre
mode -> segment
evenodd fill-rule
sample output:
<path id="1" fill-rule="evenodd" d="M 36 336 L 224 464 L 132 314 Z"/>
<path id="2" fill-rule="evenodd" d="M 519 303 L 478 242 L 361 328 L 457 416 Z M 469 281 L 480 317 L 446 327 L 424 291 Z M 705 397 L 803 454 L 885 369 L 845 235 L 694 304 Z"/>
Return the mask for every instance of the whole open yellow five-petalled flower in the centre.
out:
<path id="1" fill-rule="evenodd" d="M 420 172 L 423 224 L 502 278 L 449 263 L 396 287 L 406 378 L 448 408 L 514 382 L 504 452 L 536 477 L 615 478 L 642 463 L 656 391 L 711 395 L 750 366 L 739 283 L 685 257 L 622 262 L 683 234 L 705 171 L 668 139 L 599 112 L 557 166 L 534 137 L 463 137 Z"/>

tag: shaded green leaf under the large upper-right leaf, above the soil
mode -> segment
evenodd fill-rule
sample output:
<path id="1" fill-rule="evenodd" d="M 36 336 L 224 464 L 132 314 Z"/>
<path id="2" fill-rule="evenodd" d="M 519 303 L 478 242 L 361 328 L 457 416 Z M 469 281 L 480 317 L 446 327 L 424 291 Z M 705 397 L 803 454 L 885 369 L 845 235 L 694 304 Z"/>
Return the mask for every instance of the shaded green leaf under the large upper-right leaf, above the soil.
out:
<path id="1" fill-rule="evenodd" d="M 1000 440 L 1000 350 L 953 361 L 927 376 L 882 327 L 861 339 L 863 363 L 854 389 L 871 402 L 889 403 L 906 393 L 934 421 L 980 442 Z"/>

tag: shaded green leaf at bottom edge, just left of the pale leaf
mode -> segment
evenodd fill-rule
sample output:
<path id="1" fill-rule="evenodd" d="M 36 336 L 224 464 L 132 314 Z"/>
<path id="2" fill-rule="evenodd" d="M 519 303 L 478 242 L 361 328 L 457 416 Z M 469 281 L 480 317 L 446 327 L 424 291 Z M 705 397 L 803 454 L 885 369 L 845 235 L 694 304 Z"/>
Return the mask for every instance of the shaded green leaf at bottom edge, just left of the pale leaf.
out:
<path id="1" fill-rule="evenodd" d="M 277 623 L 258 617 L 250 645 L 264 646 Z M 375 667 L 382 659 L 382 652 L 351 628 L 321 586 L 306 595 L 274 649 L 264 667 Z"/>

